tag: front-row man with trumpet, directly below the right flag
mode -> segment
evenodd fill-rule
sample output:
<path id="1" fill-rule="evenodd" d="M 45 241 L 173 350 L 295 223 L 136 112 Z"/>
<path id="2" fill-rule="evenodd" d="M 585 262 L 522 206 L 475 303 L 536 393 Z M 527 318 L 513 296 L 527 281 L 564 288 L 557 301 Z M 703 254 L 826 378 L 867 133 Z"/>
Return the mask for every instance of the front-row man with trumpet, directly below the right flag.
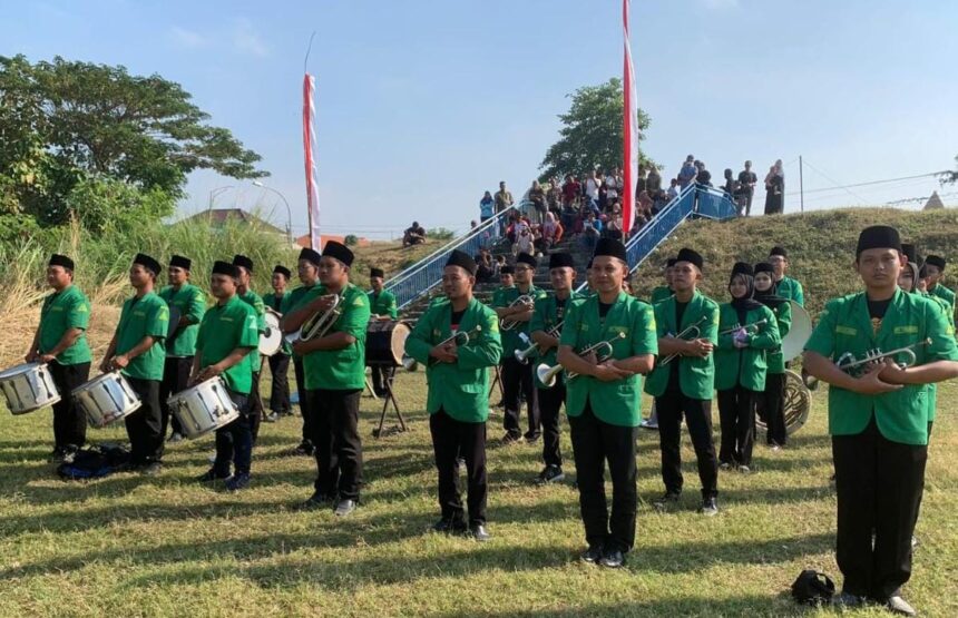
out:
<path id="1" fill-rule="evenodd" d="M 592 269 L 596 294 L 574 304 L 566 314 L 558 362 L 566 372 L 577 374 L 566 382 L 566 414 L 588 543 L 581 559 L 616 568 L 635 542 L 639 374 L 652 370 L 658 346 L 652 306 L 622 290 L 628 275 L 625 245 L 599 239 Z M 585 354 L 600 342 L 612 347 L 608 357 Z M 606 462 L 612 477 L 610 513 L 605 496 Z"/>

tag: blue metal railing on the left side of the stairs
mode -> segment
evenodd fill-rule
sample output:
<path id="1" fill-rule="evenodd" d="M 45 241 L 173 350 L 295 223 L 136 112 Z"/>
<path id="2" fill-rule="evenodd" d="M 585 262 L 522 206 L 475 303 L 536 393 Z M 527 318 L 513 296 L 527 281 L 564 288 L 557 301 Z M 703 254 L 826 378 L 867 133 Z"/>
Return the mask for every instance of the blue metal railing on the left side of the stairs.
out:
<path id="1" fill-rule="evenodd" d="M 402 310 L 442 282 L 442 269 L 453 249 L 476 255 L 483 246 L 491 246 L 506 229 L 509 215 L 525 204 L 519 203 L 469 230 L 465 236 L 443 245 L 405 271 L 385 282 L 385 290 L 395 295 L 397 307 Z"/>

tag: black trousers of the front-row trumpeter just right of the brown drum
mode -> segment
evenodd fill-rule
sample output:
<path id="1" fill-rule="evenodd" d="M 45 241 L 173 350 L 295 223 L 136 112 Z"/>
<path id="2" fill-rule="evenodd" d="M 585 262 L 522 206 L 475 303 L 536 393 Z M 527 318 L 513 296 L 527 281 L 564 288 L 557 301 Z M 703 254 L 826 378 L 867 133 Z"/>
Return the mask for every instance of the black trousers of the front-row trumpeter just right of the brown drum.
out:
<path id="1" fill-rule="evenodd" d="M 440 409 L 429 415 L 436 471 L 439 474 L 439 508 L 442 519 L 465 523 L 459 490 L 460 457 L 466 460 L 469 523 L 486 523 L 488 485 L 486 479 L 486 423 L 457 421 Z"/>

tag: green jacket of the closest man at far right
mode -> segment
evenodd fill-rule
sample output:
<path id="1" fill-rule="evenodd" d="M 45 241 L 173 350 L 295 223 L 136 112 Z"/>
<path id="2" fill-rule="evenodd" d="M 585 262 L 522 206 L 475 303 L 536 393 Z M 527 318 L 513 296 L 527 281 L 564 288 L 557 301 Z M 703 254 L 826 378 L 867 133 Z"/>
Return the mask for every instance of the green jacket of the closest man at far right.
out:
<path id="1" fill-rule="evenodd" d="M 931 339 L 931 345 L 913 349 L 916 364 L 958 360 L 950 321 L 933 301 L 896 290 L 876 335 L 864 292 L 829 301 L 805 350 L 838 361 L 845 352 L 857 360 L 869 350 L 897 350 Z M 896 359 L 901 361 L 901 359 Z M 862 395 L 844 389 L 829 389 L 829 432 L 856 435 L 864 431 L 874 414 L 879 431 L 892 442 L 928 443 L 928 389 L 906 384 L 898 391 Z"/>

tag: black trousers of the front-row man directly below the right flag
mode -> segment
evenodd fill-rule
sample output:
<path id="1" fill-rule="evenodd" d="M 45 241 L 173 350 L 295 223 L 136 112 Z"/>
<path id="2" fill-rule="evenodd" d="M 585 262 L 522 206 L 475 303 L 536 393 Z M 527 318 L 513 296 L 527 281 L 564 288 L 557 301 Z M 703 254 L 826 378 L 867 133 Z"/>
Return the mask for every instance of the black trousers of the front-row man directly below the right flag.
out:
<path id="1" fill-rule="evenodd" d="M 598 420 L 592 404 L 580 416 L 569 416 L 573 458 L 579 487 L 579 510 L 589 546 L 628 551 L 635 543 L 635 440 L 637 428 L 610 425 Z M 612 513 L 605 497 L 605 464 L 612 477 Z"/>

